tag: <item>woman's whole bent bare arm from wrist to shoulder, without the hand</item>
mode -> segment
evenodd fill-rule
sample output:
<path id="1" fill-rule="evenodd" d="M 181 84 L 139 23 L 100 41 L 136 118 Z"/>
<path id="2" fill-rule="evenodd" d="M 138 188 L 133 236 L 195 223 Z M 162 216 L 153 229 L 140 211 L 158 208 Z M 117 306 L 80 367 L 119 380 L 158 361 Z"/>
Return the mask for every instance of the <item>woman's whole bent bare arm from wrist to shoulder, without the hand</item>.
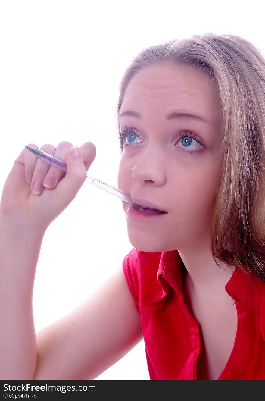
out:
<path id="1" fill-rule="evenodd" d="M 95 379 L 142 340 L 141 315 L 120 267 L 35 334 L 32 294 L 43 235 L 0 221 L 0 379 Z"/>

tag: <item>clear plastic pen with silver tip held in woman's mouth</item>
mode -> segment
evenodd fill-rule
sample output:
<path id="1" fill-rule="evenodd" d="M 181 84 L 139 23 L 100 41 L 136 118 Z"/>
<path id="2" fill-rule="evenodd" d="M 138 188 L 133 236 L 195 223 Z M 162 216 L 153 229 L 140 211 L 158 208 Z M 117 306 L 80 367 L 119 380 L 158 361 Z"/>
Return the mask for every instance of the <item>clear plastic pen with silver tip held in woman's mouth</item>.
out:
<path id="1" fill-rule="evenodd" d="M 61 168 L 61 170 L 64 170 L 64 173 L 62 174 L 61 178 L 65 177 L 65 175 L 67 173 L 67 164 L 65 162 L 63 162 L 63 160 L 57 159 L 53 155 L 46 153 L 43 150 L 40 150 L 37 148 L 32 148 L 32 146 L 25 145 L 25 148 L 28 148 L 28 150 L 30 150 L 30 152 L 32 152 L 37 158 L 42 159 L 44 162 L 46 162 L 48 164 L 53 164 L 55 167 L 58 167 L 58 168 Z M 92 177 L 88 174 L 87 174 L 87 178 L 85 181 L 89 182 L 89 184 L 93 184 L 93 185 L 97 186 L 98 188 L 101 188 L 115 196 L 118 196 L 118 198 L 122 199 L 125 202 L 132 203 L 133 205 L 135 205 L 135 203 L 131 200 L 131 198 L 129 196 L 125 195 L 125 193 L 122 190 L 120 190 L 119 188 L 115 188 L 114 186 L 106 184 L 105 182 L 100 181 L 97 178 Z"/>

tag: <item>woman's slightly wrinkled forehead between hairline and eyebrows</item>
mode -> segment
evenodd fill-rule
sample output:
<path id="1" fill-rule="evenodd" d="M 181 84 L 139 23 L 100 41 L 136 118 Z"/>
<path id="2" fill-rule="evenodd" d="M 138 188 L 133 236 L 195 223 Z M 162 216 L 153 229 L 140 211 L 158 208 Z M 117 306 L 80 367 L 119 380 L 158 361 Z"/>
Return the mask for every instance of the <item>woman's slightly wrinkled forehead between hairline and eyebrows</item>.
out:
<path id="1" fill-rule="evenodd" d="M 138 71 L 129 82 L 121 111 L 163 113 L 187 111 L 208 121 L 220 118 L 220 103 L 214 79 L 206 71 L 170 62 Z M 121 117 L 125 118 L 125 117 Z"/>

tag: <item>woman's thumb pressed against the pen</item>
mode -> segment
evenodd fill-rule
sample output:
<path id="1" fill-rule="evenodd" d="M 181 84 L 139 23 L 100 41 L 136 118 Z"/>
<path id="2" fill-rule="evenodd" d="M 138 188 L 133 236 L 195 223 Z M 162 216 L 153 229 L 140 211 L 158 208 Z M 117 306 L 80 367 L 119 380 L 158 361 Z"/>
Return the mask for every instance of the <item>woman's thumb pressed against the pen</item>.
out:
<path id="1" fill-rule="evenodd" d="M 69 203 L 75 198 L 85 182 L 87 169 L 78 146 L 73 146 L 68 150 L 65 162 L 67 164 L 67 174 L 63 180 L 58 182 L 57 187 L 59 186 L 60 195 L 63 196 L 61 201 Z"/>

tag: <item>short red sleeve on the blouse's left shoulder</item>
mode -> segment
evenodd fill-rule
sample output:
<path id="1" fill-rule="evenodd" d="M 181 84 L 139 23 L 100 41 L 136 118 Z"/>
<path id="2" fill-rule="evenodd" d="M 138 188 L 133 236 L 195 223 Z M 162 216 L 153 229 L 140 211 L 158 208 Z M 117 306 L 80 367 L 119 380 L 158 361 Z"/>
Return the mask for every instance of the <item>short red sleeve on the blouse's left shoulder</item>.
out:
<path id="1" fill-rule="evenodd" d="M 134 298 L 136 309 L 141 313 L 139 305 L 139 267 L 136 248 L 132 249 L 131 252 L 124 257 L 122 268 L 127 284 Z"/>

